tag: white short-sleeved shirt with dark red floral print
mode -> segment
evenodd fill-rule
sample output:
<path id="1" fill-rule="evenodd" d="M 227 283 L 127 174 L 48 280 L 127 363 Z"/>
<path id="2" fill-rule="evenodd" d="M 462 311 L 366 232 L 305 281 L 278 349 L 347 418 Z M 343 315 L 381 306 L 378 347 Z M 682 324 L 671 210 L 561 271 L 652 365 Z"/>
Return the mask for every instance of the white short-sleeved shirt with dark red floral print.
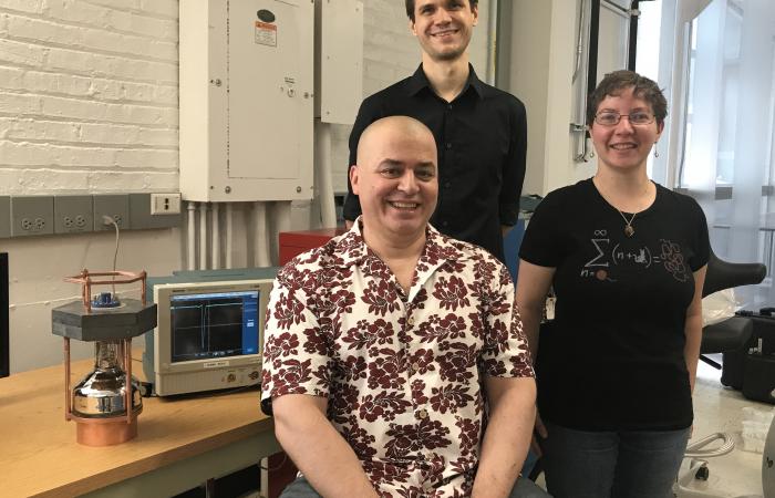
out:
<path id="1" fill-rule="evenodd" d="M 428 225 L 406 293 L 360 220 L 297 257 L 267 310 L 262 402 L 328 398 L 328 418 L 381 496 L 471 494 L 483 375 L 533 376 L 508 271 Z"/>

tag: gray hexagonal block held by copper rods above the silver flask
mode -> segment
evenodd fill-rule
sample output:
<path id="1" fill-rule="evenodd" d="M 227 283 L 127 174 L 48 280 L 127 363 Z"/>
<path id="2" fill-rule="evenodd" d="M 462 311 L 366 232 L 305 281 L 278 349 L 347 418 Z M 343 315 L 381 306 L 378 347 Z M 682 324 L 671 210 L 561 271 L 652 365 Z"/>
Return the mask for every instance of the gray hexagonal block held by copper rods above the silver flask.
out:
<path id="1" fill-rule="evenodd" d="M 156 326 L 156 304 L 123 299 L 118 308 L 92 308 L 89 313 L 81 301 L 51 310 L 51 332 L 79 341 L 131 339 Z"/>

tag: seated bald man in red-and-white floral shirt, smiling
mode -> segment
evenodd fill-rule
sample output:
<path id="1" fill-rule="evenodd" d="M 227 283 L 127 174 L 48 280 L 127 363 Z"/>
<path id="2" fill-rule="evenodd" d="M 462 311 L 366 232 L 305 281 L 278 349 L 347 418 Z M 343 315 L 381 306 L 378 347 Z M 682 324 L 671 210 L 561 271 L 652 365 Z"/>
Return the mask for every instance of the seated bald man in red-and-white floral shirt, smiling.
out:
<path id="1" fill-rule="evenodd" d="M 514 286 L 428 225 L 436 166 L 422 123 L 371 124 L 362 216 L 277 277 L 261 403 L 303 476 L 283 498 L 547 496 L 519 478 L 536 387 Z"/>

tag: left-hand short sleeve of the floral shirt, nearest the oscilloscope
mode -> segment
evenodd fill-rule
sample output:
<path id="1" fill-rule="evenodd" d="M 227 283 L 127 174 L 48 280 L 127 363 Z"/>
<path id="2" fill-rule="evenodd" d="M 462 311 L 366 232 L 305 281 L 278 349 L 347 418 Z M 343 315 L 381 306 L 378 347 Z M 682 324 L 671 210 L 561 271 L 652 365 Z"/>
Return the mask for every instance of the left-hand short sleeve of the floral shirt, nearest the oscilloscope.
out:
<path id="1" fill-rule="evenodd" d="M 296 260 L 294 260 L 296 262 Z M 264 341 L 261 405 L 285 394 L 328 397 L 330 351 L 314 301 L 304 289 L 314 289 L 314 274 L 289 263 L 272 287 Z"/>

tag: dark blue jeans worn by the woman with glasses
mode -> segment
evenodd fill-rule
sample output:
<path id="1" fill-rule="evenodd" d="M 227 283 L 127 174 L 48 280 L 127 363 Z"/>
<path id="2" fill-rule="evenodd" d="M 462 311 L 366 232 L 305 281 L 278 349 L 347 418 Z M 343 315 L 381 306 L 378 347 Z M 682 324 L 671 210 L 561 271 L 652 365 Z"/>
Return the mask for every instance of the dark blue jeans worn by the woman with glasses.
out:
<path id="1" fill-rule="evenodd" d="M 586 432 L 546 424 L 544 471 L 556 498 L 666 498 L 689 428 Z"/>

